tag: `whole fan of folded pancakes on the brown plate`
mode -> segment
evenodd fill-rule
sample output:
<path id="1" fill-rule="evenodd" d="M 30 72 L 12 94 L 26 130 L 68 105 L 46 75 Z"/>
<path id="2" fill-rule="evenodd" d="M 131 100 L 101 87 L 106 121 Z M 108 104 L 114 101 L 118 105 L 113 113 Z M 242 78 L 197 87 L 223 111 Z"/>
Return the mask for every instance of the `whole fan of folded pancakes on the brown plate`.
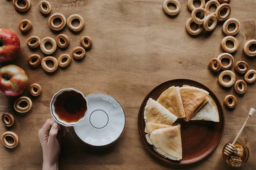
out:
<path id="1" fill-rule="evenodd" d="M 218 109 L 209 93 L 188 85 L 172 86 L 164 91 L 157 101 L 148 99 L 145 106 L 145 132 L 149 144 L 165 158 L 182 159 L 180 124 L 183 118 L 219 122 Z"/>

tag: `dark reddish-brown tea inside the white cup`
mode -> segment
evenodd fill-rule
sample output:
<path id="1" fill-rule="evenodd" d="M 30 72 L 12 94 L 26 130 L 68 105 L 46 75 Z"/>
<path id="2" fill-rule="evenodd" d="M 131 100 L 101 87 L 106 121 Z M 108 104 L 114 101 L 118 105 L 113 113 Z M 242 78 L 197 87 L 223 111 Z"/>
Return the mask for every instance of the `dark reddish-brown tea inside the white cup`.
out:
<path id="1" fill-rule="evenodd" d="M 87 111 L 87 103 L 80 93 L 64 91 L 57 96 L 54 108 L 59 119 L 67 123 L 78 122 Z"/>

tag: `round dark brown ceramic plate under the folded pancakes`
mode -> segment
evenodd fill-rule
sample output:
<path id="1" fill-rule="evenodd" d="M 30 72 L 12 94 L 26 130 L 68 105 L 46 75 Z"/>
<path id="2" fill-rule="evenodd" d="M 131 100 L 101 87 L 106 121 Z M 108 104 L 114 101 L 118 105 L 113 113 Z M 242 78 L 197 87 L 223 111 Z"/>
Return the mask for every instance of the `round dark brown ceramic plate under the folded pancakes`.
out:
<path id="1" fill-rule="evenodd" d="M 145 137 L 145 121 L 144 121 L 144 108 L 149 98 L 157 100 L 160 94 L 171 86 L 190 85 L 198 88 L 202 88 L 209 92 L 209 95 L 215 101 L 218 113 L 220 117 L 220 122 L 211 122 L 203 120 L 191 120 L 186 122 L 184 119 L 177 119 L 176 123 L 181 125 L 181 140 L 182 140 L 182 159 L 180 161 L 173 161 L 171 159 L 164 158 L 160 156 L 153 149 L 153 145 L 147 142 Z M 139 116 L 138 116 L 138 126 L 140 131 L 141 139 L 143 140 L 145 146 L 148 150 L 157 158 L 162 159 L 170 164 L 191 164 L 208 156 L 217 146 L 221 139 L 224 130 L 224 113 L 218 98 L 213 94 L 213 92 L 202 85 L 199 82 L 190 79 L 173 79 L 167 82 L 163 82 L 157 85 L 143 100 Z"/>

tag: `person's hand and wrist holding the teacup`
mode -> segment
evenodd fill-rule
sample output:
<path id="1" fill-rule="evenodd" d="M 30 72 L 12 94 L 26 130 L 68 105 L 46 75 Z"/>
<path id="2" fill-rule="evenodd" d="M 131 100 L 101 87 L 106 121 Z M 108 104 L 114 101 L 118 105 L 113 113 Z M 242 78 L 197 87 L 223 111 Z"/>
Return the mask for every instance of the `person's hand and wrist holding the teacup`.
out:
<path id="1" fill-rule="evenodd" d="M 47 119 L 44 126 L 38 131 L 43 149 L 43 170 L 58 170 L 58 157 L 61 151 L 59 128 L 58 123 L 52 118 Z"/>

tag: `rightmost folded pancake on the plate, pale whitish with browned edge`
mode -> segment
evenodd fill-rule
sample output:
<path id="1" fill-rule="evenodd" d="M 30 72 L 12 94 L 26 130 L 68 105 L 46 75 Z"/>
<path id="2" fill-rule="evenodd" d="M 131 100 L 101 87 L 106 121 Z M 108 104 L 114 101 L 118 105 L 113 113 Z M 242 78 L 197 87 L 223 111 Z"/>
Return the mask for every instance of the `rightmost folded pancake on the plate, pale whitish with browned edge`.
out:
<path id="1" fill-rule="evenodd" d="M 209 95 L 207 99 L 209 101 L 190 120 L 220 121 L 216 103 Z"/>

